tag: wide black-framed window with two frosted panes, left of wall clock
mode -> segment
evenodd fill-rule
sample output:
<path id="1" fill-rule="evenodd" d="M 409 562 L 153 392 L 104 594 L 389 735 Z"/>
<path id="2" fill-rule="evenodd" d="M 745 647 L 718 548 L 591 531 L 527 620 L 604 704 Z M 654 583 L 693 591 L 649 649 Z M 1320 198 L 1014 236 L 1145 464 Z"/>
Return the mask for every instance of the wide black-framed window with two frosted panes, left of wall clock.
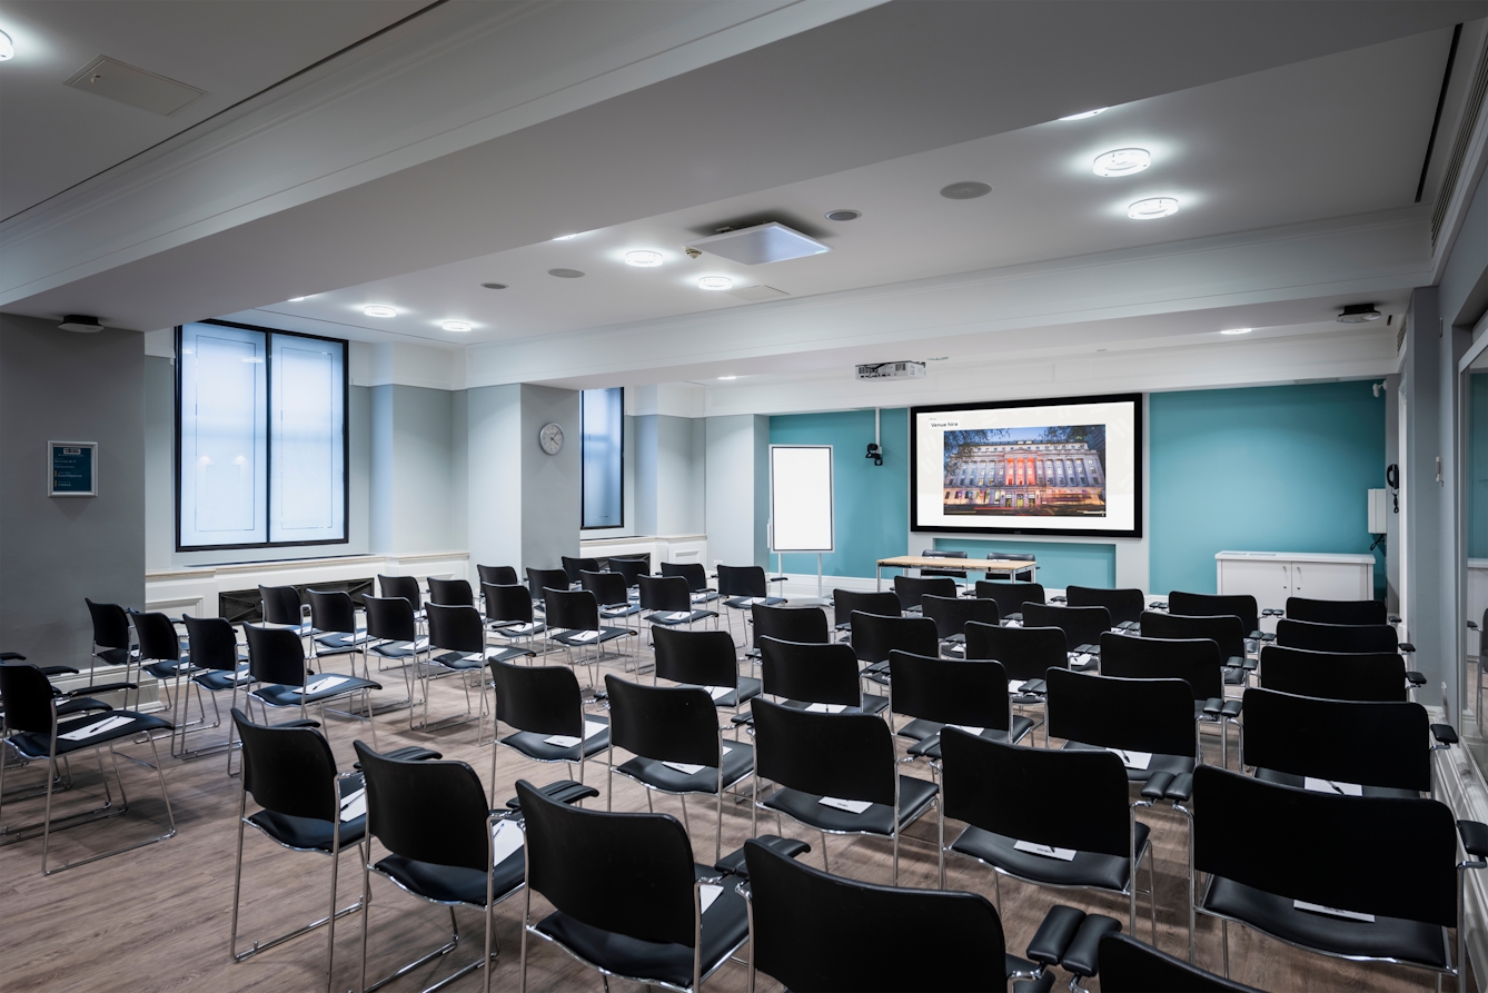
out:
<path id="1" fill-rule="evenodd" d="M 176 329 L 176 549 L 347 540 L 347 342 Z"/>

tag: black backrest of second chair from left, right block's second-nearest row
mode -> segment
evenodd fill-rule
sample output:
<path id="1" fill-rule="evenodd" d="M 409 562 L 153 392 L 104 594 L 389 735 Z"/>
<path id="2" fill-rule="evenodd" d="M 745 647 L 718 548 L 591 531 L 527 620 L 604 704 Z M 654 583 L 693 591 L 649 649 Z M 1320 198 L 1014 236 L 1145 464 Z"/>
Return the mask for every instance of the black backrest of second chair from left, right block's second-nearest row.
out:
<path id="1" fill-rule="evenodd" d="M 728 631 L 723 631 L 728 634 Z M 720 768 L 719 715 L 698 686 L 643 686 L 604 676 L 610 694 L 610 744 L 656 762 Z"/>

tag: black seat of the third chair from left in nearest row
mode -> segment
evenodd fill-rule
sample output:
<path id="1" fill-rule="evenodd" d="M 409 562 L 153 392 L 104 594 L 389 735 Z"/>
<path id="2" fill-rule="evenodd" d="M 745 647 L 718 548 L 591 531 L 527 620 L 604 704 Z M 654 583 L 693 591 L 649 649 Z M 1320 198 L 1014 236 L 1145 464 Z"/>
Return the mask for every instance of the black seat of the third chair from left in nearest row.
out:
<path id="1" fill-rule="evenodd" d="M 693 866 L 695 878 L 713 878 L 717 871 L 707 865 Z M 656 980 L 673 986 L 692 986 L 692 948 L 626 938 L 610 930 L 591 927 L 568 914 L 555 913 L 537 922 L 534 930 L 552 938 L 585 962 L 615 975 Z M 702 913 L 702 975 L 748 938 L 748 911 L 744 898 L 732 886 L 725 886 L 713 905 Z"/>

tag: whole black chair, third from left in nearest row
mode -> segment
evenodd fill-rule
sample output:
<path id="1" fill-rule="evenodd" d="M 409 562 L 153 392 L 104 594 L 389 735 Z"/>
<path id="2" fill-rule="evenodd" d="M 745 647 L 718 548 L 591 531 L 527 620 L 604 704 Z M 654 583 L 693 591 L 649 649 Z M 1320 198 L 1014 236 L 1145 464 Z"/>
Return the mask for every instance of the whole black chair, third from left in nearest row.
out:
<path id="1" fill-rule="evenodd" d="M 744 898 L 692 859 L 670 814 L 565 807 L 518 780 L 527 817 L 527 936 L 551 941 L 606 977 L 698 990 L 748 939 Z M 554 913 L 533 920 L 531 895 Z"/>

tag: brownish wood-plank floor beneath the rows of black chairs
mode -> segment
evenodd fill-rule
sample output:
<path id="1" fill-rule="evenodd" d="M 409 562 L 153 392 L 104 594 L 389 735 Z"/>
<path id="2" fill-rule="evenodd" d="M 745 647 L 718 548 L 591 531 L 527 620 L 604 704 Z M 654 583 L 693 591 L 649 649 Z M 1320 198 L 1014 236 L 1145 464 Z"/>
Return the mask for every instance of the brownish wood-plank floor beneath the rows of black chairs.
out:
<path id="1" fill-rule="evenodd" d="M 643 661 L 647 655 L 643 651 Z M 555 660 L 561 660 L 558 655 Z M 632 660 L 634 664 L 634 660 Z M 610 671 L 618 671 L 612 664 Z M 580 671 L 580 683 L 586 682 Z M 649 677 L 646 677 L 649 682 Z M 394 671 L 384 674 L 391 689 L 402 689 L 403 679 Z M 402 695 L 402 694 L 397 694 Z M 223 703 L 226 710 L 226 703 Z M 464 694 L 455 680 L 434 685 L 430 715 L 434 719 L 463 713 Z M 204 731 L 195 738 L 217 740 L 219 731 Z M 351 741 L 366 738 L 366 725 L 332 718 L 329 724 L 332 749 L 342 770 L 353 761 Z M 490 786 L 490 746 L 476 746 L 476 725 L 455 725 L 432 732 L 411 732 L 406 712 L 378 718 L 378 744 L 385 750 L 400 744 L 424 744 L 443 752 L 446 759 L 470 762 L 482 782 Z M 1042 743 L 1042 737 L 1039 738 Z M 162 750 L 164 750 L 162 743 Z M 1058 741 L 1056 741 L 1058 744 Z M 1217 740 L 1210 741 L 1219 761 Z M 149 746 L 129 744 L 122 753 L 149 756 Z M 1234 756 L 1231 756 L 1234 761 Z M 161 844 L 79 866 L 52 877 L 40 872 L 40 840 L 0 847 L 0 990 L 28 993 L 100 993 L 110 990 L 158 990 L 210 993 L 226 990 L 271 990 L 275 993 L 324 989 L 326 936 L 324 929 L 298 941 L 268 950 L 237 963 L 228 953 L 228 932 L 232 908 L 235 817 L 240 802 L 240 780 L 228 779 L 223 756 L 195 761 L 164 759 L 165 780 L 176 813 L 179 834 Z M 58 811 L 79 810 L 98 795 L 97 767 L 89 774 L 88 762 L 74 762 L 76 788 L 58 796 Z M 64 831 L 52 838 L 52 858 L 58 861 L 85 858 L 89 852 L 113 847 L 125 840 L 159 834 L 165 825 L 165 807 L 159 799 L 155 773 L 132 762 L 122 762 L 129 810 L 122 817 Z M 929 771 L 917 770 L 929 779 Z M 562 779 L 561 765 L 528 762 L 503 749 L 497 768 L 494 798 L 504 802 L 515 794 L 512 783 L 525 777 L 534 783 Z M 603 765 L 589 764 L 586 779 L 601 791 L 606 785 Z M 24 783 L 39 783 L 40 768 L 33 765 L 7 773 L 7 789 Z M 615 808 L 646 810 L 643 791 L 623 779 L 616 779 Z M 603 804 L 603 794 L 598 801 Z M 656 810 L 682 816 L 677 798 L 656 798 Z M 1073 798 L 1046 796 L 1040 802 L 1068 808 L 1079 816 Z M 4 823 L 31 822 L 40 817 L 39 799 L 6 804 Z M 698 861 L 713 861 L 714 817 L 708 801 L 689 802 L 692 838 Z M 1184 954 L 1187 947 L 1187 895 L 1184 881 L 1186 831 L 1180 814 L 1171 810 L 1141 813 L 1153 828 L 1158 853 L 1158 945 L 1173 954 Z M 771 820 L 760 820 L 762 831 L 775 831 Z M 952 838 L 961 825 L 949 822 L 946 837 Z M 743 844 L 748 837 L 750 816 L 744 804 L 726 804 L 723 813 L 725 852 Z M 821 837 L 787 822 L 784 834 L 801 837 L 812 846 L 802 856 L 814 866 L 821 865 Z M 930 844 L 905 843 L 900 849 L 900 884 L 931 887 L 936 881 L 933 849 L 934 814 L 918 823 L 912 834 Z M 832 838 L 833 872 L 873 883 L 890 881 L 890 844 L 876 840 Z M 1141 872 L 1141 884 L 1147 874 Z M 240 941 L 268 938 L 292 926 L 324 914 L 329 898 L 330 861 L 324 856 L 278 849 L 254 831 L 247 832 L 244 849 L 244 896 Z M 354 852 L 341 861 L 341 905 L 357 899 L 362 872 Z M 952 861 L 948 886 L 985 893 L 992 898 L 992 880 L 981 865 Z M 1126 904 L 1117 896 L 1085 892 L 1061 892 L 1016 881 L 1001 883 L 1001 913 L 1009 951 L 1021 953 L 1033 938 L 1043 914 L 1054 904 L 1070 904 L 1116 916 L 1125 927 Z M 519 983 L 521 895 L 496 910 L 496 933 L 501 956 L 493 974 L 493 989 L 516 990 Z M 546 908 L 534 898 L 534 914 Z M 458 969 L 479 954 L 482 936 L 481 913 L 455 913 L 461 942 L 437 963 L 424 966 L 387 987 L 394 993 L 421 990 L 424 986 Z M 449 914 L 443 908 L 423 904 L 396 889 L 391 883 L 372 880 L 372 911 L 369 917 L 369 977 L 376 978 L 403 962 L 434 948 L 448 935 Z M 338 922 L 333 990 L 350 990 L 359 984 L 362 916 L 351 914 Z M 1149 941 L 1147 902 L 1143 895 L 1137 933 Z M 891 947 L 894 936 L 884 935 Z M 1265 990 L 1430 990 L 1428 974 L 1385 965 L 1356 965 L 1305 954 L 1287 945 L 1260 938 L 1241 927 L 1231 927 L 1231 975 Z M 1199 965 L 1220 968 L 1220 927 L 1199 919 Z M 1068 975 L 1059 974 L 1056 989 L 1064 989 Z M 579 966 L 551 945 L 531 950 L 528 966 L 531 990 L 600 990 L 598 974 Z M 623 984 L 616 984 L 616 987 Z M 744 990 L 745 969 L 726 963 L 704 984 L 710 990 Z M 481 974 L 472 974 L 448 987 L 449 990 L 479 990 Z M 775 990 L 778 984 L 760 977 L 759 989 Z M 1098 989 L 1098 983 L 1094 984 Z M 1451 989 L 1451 986 L 1448 986 Z"/>

